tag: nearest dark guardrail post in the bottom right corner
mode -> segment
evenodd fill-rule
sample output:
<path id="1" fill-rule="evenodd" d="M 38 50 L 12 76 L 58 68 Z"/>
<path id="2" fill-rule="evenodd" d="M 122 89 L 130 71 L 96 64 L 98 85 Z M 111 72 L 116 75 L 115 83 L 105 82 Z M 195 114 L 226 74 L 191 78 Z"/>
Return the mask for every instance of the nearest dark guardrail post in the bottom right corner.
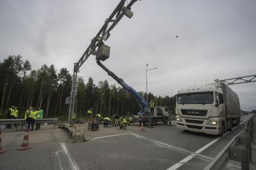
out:
<path id="1" fill-rule="evenodd" d="M 229 148 L 229 157 L 232 160 L 241 162 L 242 170 L 249 170 L 249 152 L 242 148 Z"/>

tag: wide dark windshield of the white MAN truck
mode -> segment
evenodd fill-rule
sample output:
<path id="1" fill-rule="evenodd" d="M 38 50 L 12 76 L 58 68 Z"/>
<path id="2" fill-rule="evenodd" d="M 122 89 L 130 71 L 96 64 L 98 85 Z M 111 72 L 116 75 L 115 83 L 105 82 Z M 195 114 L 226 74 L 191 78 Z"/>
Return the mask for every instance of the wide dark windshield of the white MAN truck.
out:
<path id="1" fill-rule="evenodd" d="M 186 93 L 177 95 L 178 104 L 212 104 L 213 92 Z"/>

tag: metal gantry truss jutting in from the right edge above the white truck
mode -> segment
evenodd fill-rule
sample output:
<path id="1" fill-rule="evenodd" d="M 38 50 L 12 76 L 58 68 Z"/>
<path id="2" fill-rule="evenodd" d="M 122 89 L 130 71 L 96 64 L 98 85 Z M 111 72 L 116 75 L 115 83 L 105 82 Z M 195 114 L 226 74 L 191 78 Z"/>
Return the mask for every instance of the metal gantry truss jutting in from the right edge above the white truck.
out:
<path id="1" fill-rule="evenodd" d="M 216 79 L 215 82 L 224 82 L 227 85 L 236 85 L 236 84 L 240 84 L 240 83 L 251 83 L 251 82 L 256 82 L 256 74 L 251 75 L 251 76 L 236 77 L 236 78 L 232 78 L 232 79 L 224 79 L 224 80 Z"/>

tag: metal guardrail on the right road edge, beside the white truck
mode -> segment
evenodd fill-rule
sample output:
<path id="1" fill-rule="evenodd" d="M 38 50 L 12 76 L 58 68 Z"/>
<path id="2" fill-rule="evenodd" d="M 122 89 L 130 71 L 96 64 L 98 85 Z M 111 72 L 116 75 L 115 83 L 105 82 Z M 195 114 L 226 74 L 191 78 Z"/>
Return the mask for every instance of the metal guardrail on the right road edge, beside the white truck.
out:
<path id="1" fill-rule="evenodd" d="M 242 170 L 249 170 L 252 162 L 251 141 L 253 140 L 254 116 L 243 129 L 220 151 L 220 153 L 204 168 L 204 170 L 225 169 L 229 160 L 241 162 Z"/>

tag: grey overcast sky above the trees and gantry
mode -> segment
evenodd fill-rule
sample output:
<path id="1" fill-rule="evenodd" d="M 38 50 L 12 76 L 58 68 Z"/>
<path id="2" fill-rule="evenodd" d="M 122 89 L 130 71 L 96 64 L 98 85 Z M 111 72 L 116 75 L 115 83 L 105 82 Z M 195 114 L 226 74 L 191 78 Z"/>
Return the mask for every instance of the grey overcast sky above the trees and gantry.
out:
<path id="1" fill-rule="evenodd" d="M 73 73 L 91 39 L 118 0 L 0 1 L 0 61 L 20 54 L 32 68 L 67 67 Z M 256 74 L 256 1 L 142 0 L 132 6 L 105 44 L 110 70 L 137 91 L 174 96 L 214 79 Z M 178 35 L 178 38 L 175 36 Z M 79 76 L 115 81 L 90 56 Z M 232 85 L 241 108 L 256 109 L 256 82 Z"/>

